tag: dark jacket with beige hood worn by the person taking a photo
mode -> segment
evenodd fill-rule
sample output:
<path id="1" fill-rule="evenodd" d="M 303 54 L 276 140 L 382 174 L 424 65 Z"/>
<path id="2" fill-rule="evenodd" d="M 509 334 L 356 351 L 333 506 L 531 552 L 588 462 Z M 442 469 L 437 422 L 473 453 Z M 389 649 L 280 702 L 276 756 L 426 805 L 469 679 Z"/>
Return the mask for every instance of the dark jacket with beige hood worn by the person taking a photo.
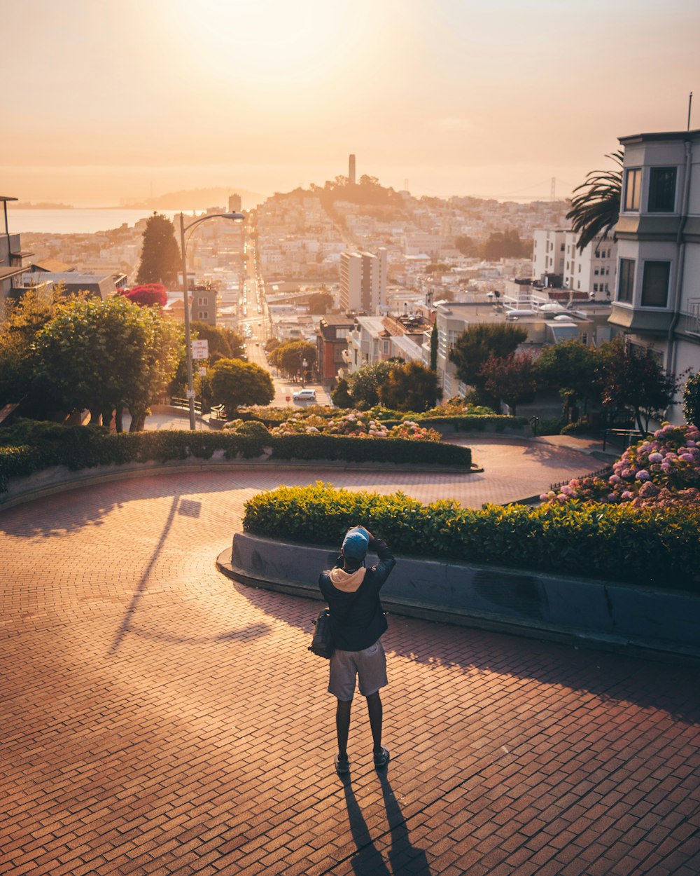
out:
<path id="1" fill-rule="evenodd" d="M 386 541 L 372 539 L 368 549 L 379 557 L 371 569 L 346 572 L 339 556 L 333 569 L 318 576 L 318 586 L 331 610 L 333 644 L 341 651 L 363 651 L 387 629 L 379 591 L 396 561 Z"/>

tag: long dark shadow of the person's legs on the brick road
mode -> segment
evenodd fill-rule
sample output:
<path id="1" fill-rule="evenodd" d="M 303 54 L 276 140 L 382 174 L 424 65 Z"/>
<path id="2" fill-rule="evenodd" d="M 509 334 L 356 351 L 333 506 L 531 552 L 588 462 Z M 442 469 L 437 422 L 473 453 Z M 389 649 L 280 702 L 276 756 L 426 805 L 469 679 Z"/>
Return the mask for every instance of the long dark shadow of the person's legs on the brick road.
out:
<path id="1" fill-rule="evenodd" d="M 406 867 L 410 864 L 411 876 L 430 876 L 430 866 L 425 851 L 410 844 L 406 820 L 402 815 L 394 791 L 391 789 L 386 772 L 379 773 L 379 781 L 381 782 L 381 795 L 384 798 L 384 808 L 387 810 L 387 820 L 391 832 L 391 848 L 388 851 L 390 869 L 369 834 L 367 822 L 355 799 L 350 777 L 347 776 L 343 779 L 347 817 L 358 851 L 351 861 L 353 872 L 357 876 L 391 876 L 392 873 L 394 876 L 399 876 L 399 874 L 406 872 Z"/>

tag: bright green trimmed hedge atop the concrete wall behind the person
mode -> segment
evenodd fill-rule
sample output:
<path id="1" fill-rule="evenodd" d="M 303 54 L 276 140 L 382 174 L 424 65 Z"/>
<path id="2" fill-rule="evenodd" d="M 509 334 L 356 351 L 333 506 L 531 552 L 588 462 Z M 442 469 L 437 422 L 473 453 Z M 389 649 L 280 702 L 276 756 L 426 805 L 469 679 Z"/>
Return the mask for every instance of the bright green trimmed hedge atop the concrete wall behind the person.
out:
<path id="1" fill-rule="evenodd" d="M 331 484 L 279 487 L 246 504 L 246 532 L 337 548 L 367 526 L 398 554 L 654 584 L 700 593 L 700 510 L 630 505 L 422 505 Z"/>

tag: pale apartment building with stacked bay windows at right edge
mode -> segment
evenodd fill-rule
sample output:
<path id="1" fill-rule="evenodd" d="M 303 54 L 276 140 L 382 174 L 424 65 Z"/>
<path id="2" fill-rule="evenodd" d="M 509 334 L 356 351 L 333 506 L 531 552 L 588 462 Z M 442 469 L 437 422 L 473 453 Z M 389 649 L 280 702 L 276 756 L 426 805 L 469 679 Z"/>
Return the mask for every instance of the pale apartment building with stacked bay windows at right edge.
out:
<path id="1" fill-rule="evenodd" d="M 620 137 L 623 187 L 610 321 L 669 371 L 700 371 L 700 130 Z M 671 422 L 683 422 L 681 398 Z"/>

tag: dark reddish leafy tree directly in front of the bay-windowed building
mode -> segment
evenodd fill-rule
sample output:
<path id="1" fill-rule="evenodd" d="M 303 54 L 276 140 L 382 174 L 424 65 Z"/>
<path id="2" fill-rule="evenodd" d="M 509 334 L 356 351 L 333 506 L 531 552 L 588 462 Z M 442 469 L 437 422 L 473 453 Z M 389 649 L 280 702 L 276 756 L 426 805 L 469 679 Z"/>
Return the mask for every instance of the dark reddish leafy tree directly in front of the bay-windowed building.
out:
<path id="1" fill-rule="evenodd" d="M 599 353 L 603 405 L 613 412 L 630 411 L 640 432 L 648 434 L 649 420 L 662 419 L 676 395 L 676 376 L 663 369 L 651 350 L 621 337 L 601 344 Z"/>

